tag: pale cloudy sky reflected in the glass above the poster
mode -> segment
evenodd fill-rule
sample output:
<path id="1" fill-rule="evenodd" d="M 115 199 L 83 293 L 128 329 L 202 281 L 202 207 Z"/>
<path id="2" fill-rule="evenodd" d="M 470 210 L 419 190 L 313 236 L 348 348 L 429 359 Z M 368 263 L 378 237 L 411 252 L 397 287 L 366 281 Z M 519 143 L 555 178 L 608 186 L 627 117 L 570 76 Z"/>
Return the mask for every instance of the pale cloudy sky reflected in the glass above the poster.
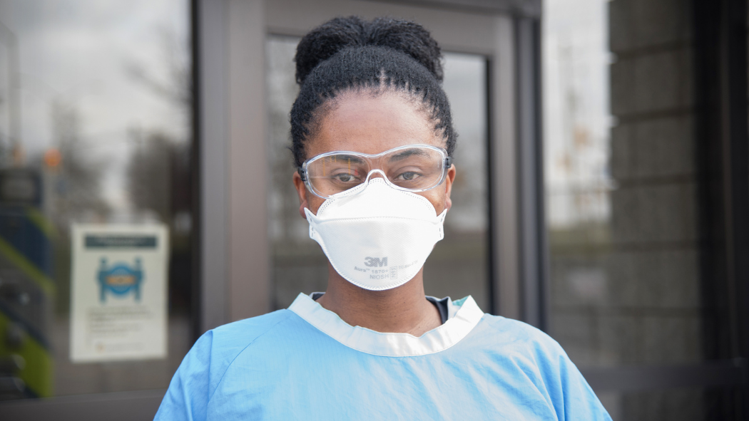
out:
<path id="1" fill-rule="evenodd" d="M 170 83 L 165 39 L 187 57 L 188 8 L 184 0 L 0 0 L 0 22 L 18 39 L 21 139 L 27 156 L 55 147 L 52 104 L 76 110 L 85 150 L 107 162 L 107 200 L 127 206 L 124 165 L 132 129 L 186 139 L 183 108 L 154 93 L 128 71 L 141 67 Z M 0 97 L 7 99 L 7 40 L 0 40 Z M 174 61 L 172 61 L 174 62 Z M 0 102 L 0 132 L 7 133 L 7 101 Z"/>

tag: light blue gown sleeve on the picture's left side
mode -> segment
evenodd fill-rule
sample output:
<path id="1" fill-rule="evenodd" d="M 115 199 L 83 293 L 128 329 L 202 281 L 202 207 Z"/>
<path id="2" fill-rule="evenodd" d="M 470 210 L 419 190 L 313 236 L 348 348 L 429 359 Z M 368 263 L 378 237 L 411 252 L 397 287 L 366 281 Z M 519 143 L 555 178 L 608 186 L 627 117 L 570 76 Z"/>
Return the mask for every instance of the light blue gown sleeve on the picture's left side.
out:
<path id="1" fill-rule="evenodd" d="M 210 354 L 213 332 L 203 334 L 185 355 L 154 421 L 202 421 L 210 399 Z"/>

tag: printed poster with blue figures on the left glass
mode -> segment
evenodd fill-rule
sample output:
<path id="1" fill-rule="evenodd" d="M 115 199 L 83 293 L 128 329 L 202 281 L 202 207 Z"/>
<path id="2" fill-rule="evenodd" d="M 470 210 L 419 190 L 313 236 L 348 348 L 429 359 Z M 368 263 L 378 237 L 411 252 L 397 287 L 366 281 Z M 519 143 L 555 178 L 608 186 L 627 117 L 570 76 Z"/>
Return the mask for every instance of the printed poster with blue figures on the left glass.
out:
<path id="1" fill-rule="evenodd" d="M 70 359 L 166 357 L 166 226 L 73 224 Z"/>

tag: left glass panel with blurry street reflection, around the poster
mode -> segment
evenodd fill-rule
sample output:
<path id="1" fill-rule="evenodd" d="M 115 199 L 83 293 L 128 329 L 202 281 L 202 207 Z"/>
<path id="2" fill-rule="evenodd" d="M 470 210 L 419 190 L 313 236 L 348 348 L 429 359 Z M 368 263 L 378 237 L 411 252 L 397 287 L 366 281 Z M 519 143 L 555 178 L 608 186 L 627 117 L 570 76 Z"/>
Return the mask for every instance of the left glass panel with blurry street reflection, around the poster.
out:
<path id="1" fill-rule="evenodd" d="M 167 387 L 192 344 L 188 3 L 0 0 L 0 399 Z M 70 225 L 169 227 L 169 357 L 70 362 Z"/>

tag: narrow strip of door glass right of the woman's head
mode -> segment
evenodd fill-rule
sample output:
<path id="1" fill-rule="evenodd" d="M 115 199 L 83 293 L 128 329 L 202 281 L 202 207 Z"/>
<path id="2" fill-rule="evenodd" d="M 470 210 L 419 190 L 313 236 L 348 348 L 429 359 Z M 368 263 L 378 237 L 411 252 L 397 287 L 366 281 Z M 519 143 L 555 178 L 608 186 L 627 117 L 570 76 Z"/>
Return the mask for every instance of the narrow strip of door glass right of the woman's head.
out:
<path id="1" fill-rule="evenodd" d="M 458 144 L 452 209 L 445 219 L 445 239 L 438 242 L 424 268 L 427 294 L 453 299 L 472 295 L 490 311 L 488 264 L 488 132 L 486 59 L 445 54 L 443 87 L 450 100 Z"/>

